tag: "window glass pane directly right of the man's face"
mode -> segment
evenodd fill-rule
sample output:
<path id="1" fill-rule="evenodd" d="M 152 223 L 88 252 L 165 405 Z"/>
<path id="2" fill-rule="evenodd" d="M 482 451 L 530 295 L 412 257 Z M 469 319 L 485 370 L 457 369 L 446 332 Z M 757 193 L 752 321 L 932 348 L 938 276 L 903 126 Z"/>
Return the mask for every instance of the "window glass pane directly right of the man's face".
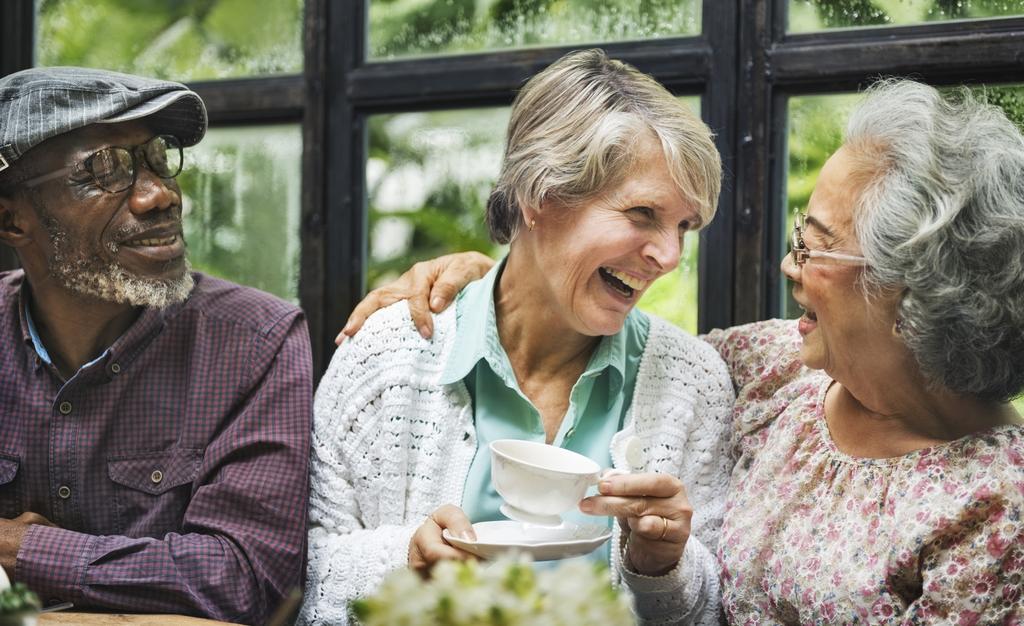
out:
<path id="1" fill-rule="evenodd" d="M 178 180 L 193 267 L 299 300 L 299 125 L 212 128 Z"/>

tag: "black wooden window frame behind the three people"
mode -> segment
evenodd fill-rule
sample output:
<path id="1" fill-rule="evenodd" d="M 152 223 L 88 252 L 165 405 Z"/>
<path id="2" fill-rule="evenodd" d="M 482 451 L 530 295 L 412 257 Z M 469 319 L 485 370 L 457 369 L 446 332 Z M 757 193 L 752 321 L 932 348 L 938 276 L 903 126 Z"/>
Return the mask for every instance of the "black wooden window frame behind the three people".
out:
<path id="1" fill-rule="evenodd" d="M 366 289 L 369 116 L 507 106 L 529 76 L 584 47 L 371 61 L 369 1 L 306 0 L 301 75 L 190 83 L 212 126 L 302 124 L 299 298 L 317 372 Z M 716 132 L 725 180 L 700 239 L 701 332 L 779 315 L 788 97 L 856 91 L 879 76 L 937 85 L 1024 81 L 1024 16 L 790 34 L 787 7 L 787 0 L 702 0 L 696 36 L 594 44 L 676 93 L 700 95 Z M 0 3 L 0 74 L 32 65 L 34 16 L 33 0 Z M 13 258 L 0 250 L 0 267 Z"/>

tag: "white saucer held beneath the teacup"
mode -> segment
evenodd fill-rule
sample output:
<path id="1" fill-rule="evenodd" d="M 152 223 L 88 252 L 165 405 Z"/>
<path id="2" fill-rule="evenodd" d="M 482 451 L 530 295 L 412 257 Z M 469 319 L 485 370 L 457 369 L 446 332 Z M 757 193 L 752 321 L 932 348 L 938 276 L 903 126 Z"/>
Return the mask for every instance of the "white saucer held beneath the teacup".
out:
<path id="1" fill-rule="evenodd" d="M 611 529 L 596 525 L 565 524 L 557 528 L 537 527 L 518 521 L 478 521 L 473 525 L 476 541 L 453 537 L 447 529 L 444 540 L 481 558 L 505 552 L 529 554 L 534 560 L 556 560 L 588 554 L 611 537 Z"/>

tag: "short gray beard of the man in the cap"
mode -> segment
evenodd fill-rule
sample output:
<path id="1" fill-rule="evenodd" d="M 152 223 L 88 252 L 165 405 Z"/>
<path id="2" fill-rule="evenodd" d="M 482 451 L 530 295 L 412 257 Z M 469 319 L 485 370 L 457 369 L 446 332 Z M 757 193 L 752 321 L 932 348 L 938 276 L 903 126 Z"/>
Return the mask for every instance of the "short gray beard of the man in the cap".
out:
<path id="1" fill-rule="evenodd" d="M 105 302 L 155 308 L 183 302 L 191 293 L 195 282 L 187 259 L 179 277 L 143 278 L 129 273 L 119 263 L 108 263 L 96 255 L 76 254 L 72 250 L 74 242 L 56 219 L 43 216 L 43 223 L 53 246 L 53 257 L 47 268 L 50 276 L 73 293 Z M 110 244 L 110 247 L 112 252 L 117 252 L 117 244 Z"/>

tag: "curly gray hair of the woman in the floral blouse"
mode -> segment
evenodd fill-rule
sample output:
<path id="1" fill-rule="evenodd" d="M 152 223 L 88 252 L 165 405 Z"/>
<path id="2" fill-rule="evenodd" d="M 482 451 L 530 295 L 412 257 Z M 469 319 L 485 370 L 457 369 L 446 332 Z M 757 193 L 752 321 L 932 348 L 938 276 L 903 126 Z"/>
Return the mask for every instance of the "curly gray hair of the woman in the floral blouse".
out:
<path id="1" fill-rule="evenodd" d="M 871 86 L 846 147 L 865 174 L 854 220 L 868 287 L 903 292 L 902 338 L 933 385 L 1005 402 L 1024 389 L 1024 137 L 967 88 Z"/>

